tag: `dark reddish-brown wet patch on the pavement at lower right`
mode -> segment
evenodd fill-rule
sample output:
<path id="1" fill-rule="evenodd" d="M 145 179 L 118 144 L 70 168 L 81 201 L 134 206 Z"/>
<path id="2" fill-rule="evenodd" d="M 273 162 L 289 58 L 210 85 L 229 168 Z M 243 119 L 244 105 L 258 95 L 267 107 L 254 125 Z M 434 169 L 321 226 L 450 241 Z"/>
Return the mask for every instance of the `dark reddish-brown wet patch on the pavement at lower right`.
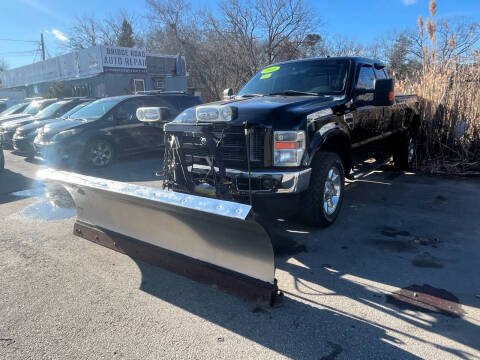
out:
<path id="1" fill-rule="evenodd" d="M 427 284 L 410 285 L 387 295 L 387 303 L 395 305 L 401 310 L 436 313 L 451 318 L 465 315 L 465 311 L 455 295 Z"/>

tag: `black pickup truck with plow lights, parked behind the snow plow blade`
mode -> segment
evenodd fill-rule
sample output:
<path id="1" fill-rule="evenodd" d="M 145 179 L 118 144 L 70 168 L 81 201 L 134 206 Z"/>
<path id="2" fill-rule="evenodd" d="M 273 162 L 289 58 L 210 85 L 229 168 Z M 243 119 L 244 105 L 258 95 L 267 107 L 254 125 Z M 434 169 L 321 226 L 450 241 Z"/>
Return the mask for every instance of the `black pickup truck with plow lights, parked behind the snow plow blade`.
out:
<path id="1" fill-rule="evenodd" d="M 327 226 L 340 211 L 345 177 L 365 173 L 367 160 L 393 155 L 398 169 L 410 166 L 418 123 L 416 96 L 395 96 L 380 61 L 273 64 L 237 95 L 227 89 L 222 101 L 164 125 L 164 186 Z"/>

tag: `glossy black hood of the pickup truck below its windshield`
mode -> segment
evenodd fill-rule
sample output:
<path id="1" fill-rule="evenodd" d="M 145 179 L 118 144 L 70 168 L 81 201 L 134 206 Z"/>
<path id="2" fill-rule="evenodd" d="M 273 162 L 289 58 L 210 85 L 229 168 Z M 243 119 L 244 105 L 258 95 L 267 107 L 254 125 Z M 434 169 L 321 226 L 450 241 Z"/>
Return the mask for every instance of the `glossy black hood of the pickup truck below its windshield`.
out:
<path id="1" fill-rule="evenodd" d="M 337 105 L 343 97 L 334 96 L 256 96 L 250 98 L 237 97 L 222 100 L 208 105 L 229 105 L 238 110 L 233 125 L 249 124 L 272 125 L 276 127 L 292 127 L 303 121 L 306 115 Z"/>

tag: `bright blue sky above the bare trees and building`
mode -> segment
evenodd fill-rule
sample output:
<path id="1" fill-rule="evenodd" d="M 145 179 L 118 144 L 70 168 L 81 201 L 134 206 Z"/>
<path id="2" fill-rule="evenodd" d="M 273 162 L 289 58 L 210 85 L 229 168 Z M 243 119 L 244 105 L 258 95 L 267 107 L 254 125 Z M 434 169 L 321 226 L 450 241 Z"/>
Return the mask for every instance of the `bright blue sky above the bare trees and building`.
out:
<path id="1" fill-rule="evenodd" d="M 191 0 L 194 8 L 214 8 L 214 1 Z M 416 26 L 418 15 L 428 16 L 429 0 L 310 0 L 322 19 L 321 30 L 368 43 L 382 34 Z M 120 9 L 142 17 L 144 0 L 0 0 L 0 60 L 10 68 L 40 60 L 40 34 L 47 56 L 62 53 L 61 44 L 75 17 L 97 19 Z M 467 16 L 480 21 L 480 0 L 437 0 L 437 17 Z M 148 20 L 145 20 L 148 21 Z M 8 41 L 6 39 L 17 40 Z M 18 41 L 21 40 L 21 41 Z"/>

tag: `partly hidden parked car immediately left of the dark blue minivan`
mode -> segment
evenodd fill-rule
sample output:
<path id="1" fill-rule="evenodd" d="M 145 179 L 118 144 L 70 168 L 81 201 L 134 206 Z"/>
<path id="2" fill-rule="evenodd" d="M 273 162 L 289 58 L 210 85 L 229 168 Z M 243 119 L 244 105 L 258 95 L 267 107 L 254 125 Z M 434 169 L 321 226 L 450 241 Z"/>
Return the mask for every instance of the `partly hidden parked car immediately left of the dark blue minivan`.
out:
<path id="1" fill-rule="evenodd" d="M 34 156 L 35 150 L 33 148 L 33 141 L 35 140 L 35 136 L 37 136 L 37 132 L 40 128 L 44 127 L 47 124 L 70 119 L 75 114 L 75 112 L 80 110 L 82 107 L 88 105 L 92 101 L 94 100 L 78 99 L 72 102 L 72 104 L 75 105 L 75 107 L 67 111 L 65 114 L 63 114 L 60 117 L 50 118 L 45 120 L 36 119 L 34 122 L 30 124 L 18 127 L 12 139 L 13 149 L 17 153 L 23 154 L 27 157 Z"/>

